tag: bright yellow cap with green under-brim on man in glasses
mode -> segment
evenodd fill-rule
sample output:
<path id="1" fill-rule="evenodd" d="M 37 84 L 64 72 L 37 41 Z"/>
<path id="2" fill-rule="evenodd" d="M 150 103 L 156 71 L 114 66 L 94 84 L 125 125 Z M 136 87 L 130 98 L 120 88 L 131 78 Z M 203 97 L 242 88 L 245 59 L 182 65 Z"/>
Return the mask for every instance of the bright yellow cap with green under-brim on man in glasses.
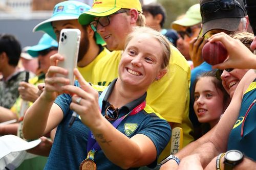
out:
<path id="1" fill-rule="evenodd" d="M 142 12 L 142 7 L 139 0 L 127 1 L 127 0 L 94 0 L 92 9 L 83 12 L 78 22 L 81 25 L 87 25 L 94 20 L 95 16 L 108 16 L 121 8 L 124 9 L 136 9 L 138 12 Z"/>

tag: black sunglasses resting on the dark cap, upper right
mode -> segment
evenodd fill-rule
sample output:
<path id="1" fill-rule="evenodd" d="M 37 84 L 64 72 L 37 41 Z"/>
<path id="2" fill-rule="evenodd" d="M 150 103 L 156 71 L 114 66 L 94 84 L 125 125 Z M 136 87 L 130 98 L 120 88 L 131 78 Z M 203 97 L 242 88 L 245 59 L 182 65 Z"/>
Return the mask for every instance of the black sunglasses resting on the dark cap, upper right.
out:
<path id="1" fill-rule="evenodd" d="M 236 0 L 217 0 L 217 1 L 210 1 L 204 3 L 200 7 L 200 11 L 203 15 L 210 14 L 212 12 L 216 12 L 219 9 L 225 10 L 232 10 L 236 7 Z"/>

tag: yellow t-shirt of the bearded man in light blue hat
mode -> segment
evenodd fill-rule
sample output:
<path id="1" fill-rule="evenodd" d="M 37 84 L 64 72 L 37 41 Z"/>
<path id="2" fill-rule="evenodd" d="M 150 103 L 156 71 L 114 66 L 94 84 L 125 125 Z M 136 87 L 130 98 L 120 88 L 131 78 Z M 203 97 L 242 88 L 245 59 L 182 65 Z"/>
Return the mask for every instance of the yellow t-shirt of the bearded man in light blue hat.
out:
<path id="1" fill-rule="evenodd" d="M 92 81 L 92 71 L 96 63 L 105 56 L 108 56 L 109 54 L 110 51 L 104 47 L 102 52 L 100 52 L 100 54 L 90 64 L 85 67 L 77 67 L 77 69 L 80 71 L 81 75 L 87 82 Z"/>

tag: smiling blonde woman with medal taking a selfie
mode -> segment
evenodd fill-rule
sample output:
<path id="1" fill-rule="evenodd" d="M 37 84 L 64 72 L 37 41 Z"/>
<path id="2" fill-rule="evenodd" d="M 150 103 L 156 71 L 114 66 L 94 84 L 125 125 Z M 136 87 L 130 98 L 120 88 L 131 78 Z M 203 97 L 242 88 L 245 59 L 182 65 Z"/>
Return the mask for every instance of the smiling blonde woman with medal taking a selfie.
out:
<path id="1" fill-rule="evenodd" d="M 58 126 L 45 169 L 156 166 L 171 131 L 145 104 L 146 90 L 166 74 L 169 56 L 169 42 L 161 33 L 138 27 L 127 36 L 119 77 L 108 87 L 90 86 L 77 69 L 78 81 L 68 85 L 68 79 L 55 76 L 67 75 L 67 70 L 51 66 L 45 90 L 27 111 L 23 128 L 25 138 L 35 139 Z M 57 54 L 51 60 L 63 58 Z M 79 117 L 69 128 L 73 111 Z"/>

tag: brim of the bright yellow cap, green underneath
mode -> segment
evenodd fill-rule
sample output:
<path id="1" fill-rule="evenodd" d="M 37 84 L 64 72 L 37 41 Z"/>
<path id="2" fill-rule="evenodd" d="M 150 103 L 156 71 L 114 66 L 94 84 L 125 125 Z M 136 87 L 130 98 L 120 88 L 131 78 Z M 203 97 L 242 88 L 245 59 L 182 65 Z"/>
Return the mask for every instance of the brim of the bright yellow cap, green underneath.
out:
<path id="1" fill-rule="evenodd" d="M 108 15 L 111 15 L 111 14 L 117 12 L 120 9 L 121 8 L 118 8 L 118 7 L 115 7 L 115 8 L 113 8 L 113 7 L 92 8 L 89 11 L 82 13 L 78 17 L 78 22 L 80 23 L 80 25 L 87 25 L 91 21 L 94 20 L 94 17 L 108 16 Z"/>

